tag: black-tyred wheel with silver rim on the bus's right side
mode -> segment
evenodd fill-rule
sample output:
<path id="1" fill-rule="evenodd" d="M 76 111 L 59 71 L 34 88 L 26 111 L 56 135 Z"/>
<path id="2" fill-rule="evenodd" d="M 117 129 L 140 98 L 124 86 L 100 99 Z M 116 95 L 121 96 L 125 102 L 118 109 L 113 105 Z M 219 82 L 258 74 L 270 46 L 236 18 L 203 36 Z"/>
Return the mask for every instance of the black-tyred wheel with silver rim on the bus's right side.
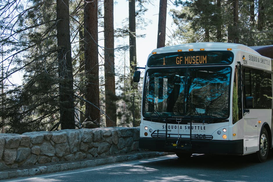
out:
<path id="1" fill-rule="evenodd" d="M 260 145 L 259 145 L 259 151 L 257 151 L 257 159 L 258 162 L 264 162 L 267 159 L 268 151 L 269 151 L 269 138 L 268 134 L 265 128 L 262 129 L 261 135 L 260 135 Z"/>

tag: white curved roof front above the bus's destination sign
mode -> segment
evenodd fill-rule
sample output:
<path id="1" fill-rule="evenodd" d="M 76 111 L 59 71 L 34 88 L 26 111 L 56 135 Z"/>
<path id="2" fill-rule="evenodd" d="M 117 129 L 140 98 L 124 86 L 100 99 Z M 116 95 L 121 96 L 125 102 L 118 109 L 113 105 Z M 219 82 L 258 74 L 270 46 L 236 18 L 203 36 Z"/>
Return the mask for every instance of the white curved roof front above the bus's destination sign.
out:
<path id="1" fill-rule="evenodd" d="M 189 44 L 179 44 L 175 46 L 167 46 L 167 47 L 161 47 L 154 49 L 152 52 L 165 52 L 165 51 L 188 51 L 188 49 L 196 49 L 194 51 L 199 51 L 201 48 L 204 49 L 241 49 L 244 51 L 248 51 L 251 53 L 258 54 L 254 49 L 249 48 L 242 44 L 234 44 L 234 43 L 223 43 L 223 42 L 198 42 L 198 43 L 189 43 Z"/>

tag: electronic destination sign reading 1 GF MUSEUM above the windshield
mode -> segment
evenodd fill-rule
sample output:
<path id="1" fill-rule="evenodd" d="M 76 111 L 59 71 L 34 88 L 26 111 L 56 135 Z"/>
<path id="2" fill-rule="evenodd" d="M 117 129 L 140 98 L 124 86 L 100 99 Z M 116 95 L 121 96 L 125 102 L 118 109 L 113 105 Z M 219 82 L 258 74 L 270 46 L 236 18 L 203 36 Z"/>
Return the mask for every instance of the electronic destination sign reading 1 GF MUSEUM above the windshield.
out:
<path id="1" fill-rule="evenodd" d="M 162 53 L 152 55 L 148 60 L 148 66 L 227 65 L 232 63 L 233 57 L 234 55 L 231 51 Z"/>

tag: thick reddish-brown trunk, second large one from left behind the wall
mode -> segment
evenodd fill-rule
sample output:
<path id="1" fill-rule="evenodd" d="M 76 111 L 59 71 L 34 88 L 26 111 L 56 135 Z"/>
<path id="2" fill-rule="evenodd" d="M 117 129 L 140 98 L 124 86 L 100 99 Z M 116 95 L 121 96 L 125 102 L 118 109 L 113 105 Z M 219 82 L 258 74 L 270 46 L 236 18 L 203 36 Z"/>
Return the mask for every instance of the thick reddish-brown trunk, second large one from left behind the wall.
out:
<path id="1" fill-rule="evenodd" d="M 85 1 L 85 75 L 87 77 L 85 117 L 100 125 L 98 71 L 98 1 Z M 90 102 L 90 103 L 89 103 Z"/>

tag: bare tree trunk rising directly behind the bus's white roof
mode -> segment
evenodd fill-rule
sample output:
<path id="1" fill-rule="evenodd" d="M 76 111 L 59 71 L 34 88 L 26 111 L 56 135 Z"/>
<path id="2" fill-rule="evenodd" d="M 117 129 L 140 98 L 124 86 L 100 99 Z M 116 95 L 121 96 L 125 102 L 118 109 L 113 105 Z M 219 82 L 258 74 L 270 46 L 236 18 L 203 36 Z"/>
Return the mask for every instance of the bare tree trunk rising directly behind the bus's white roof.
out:
<path id="1" fill-rule="evenodd" d="M 158 32 L 157 32 L 157 48 L 165 47 L 166 15 L 167 15 L 167 0 L 160 0 L 159 17 L 158 17 Z"/>

